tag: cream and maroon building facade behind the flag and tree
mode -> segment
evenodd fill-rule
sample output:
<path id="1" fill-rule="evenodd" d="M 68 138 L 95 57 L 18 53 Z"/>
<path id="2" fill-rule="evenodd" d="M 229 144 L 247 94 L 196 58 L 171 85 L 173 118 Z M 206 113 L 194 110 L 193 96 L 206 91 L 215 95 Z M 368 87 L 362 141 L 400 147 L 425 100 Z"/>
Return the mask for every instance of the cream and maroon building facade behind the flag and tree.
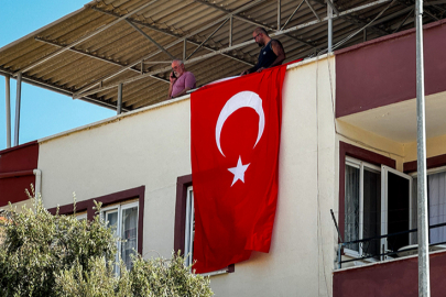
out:
<path id="1" fill-rule="evenodd" d="M 443 22 L 425 28 L 431 226 L 446 222 L 445 36 Z M 405 31 L 287 66 L 271 251 L 213 274 L 216 296 L 417 295 L 407 252 L 416 234 L 406 232 L 416 228 L 414 40 Z M 189 103 L 184 96 L 0 152 L 0 206 L 25 202 L 18 188 L 35 174 L 52 211 L 73 212 L 74 191 L 87 219 L 101 201 L 129 240 L 122 251 L 187 251 Z M 429 235 L 433 296 L 445 286 L 444 228 Z"/>

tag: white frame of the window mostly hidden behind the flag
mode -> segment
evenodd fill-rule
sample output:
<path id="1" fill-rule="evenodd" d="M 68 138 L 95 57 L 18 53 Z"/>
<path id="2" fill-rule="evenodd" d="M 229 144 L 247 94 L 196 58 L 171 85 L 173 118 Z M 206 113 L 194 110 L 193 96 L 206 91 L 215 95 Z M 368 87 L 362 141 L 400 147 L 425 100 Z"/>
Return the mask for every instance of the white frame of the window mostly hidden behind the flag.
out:
<path id="1" fill-rule="evenodd" d="M 195 208 L 194 208 L 194 190 L 193 186 L 187 187 L 186 198 L 186 228 L 184 237 L 184 265 L 188 266 L 194 261 L 194 238 L 195 238 Z M 203 276 L 214 276 L 228 273 L 227 268 L 215 272 L 203 273 Z"/>

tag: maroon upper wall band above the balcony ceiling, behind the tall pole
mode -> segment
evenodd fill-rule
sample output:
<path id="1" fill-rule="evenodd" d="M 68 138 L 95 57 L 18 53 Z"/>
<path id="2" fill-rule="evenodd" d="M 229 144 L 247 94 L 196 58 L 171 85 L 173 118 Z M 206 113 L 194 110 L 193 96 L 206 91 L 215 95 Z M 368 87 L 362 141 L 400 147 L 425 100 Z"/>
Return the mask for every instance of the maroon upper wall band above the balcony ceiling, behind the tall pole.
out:
<path id="1" fill-rule="evenodd" d="M 446 20 L 424 26 L 425 91 L 446 91 Z M 336 117 L 415 98 L 415 30 L 335 52 Z"/>

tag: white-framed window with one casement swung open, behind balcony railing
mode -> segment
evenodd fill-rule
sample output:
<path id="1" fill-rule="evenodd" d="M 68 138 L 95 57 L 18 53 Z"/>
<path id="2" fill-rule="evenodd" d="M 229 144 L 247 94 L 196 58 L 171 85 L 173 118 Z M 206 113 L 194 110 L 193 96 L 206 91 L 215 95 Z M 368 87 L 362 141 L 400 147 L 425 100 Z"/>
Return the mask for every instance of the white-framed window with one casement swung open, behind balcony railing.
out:
<path id="1" fill-rule="evenodd" d="M 389 256 L 380 254 L 410 244 L 409 234 L 379 237 L 412 228 L 411 187 L 409 175 L 385 165 L 346 157 L 345 242 L 370 239 L 346 245 L 347 254 L 384 260 Z"/>

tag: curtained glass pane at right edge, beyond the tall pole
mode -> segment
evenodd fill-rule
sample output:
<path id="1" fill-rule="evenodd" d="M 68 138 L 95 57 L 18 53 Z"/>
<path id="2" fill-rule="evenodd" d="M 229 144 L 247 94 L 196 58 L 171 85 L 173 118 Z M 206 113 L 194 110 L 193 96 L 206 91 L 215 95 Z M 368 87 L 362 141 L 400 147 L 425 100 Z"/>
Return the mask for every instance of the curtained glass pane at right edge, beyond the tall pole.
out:
<path id="1" fill-rule="evenodd" d="M 446 222 L 446 173 L 427 176 L 429 226 Z M 429 230 L 429 243 L 446 241 L 446 227 Z"/>

